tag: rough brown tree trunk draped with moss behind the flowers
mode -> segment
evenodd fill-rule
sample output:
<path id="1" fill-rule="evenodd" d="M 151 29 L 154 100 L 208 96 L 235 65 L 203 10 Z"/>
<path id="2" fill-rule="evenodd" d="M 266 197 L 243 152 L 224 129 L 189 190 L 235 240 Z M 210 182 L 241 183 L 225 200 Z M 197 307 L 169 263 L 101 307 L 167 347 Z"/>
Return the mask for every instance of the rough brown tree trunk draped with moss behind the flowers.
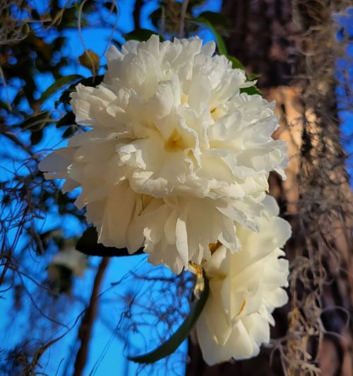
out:
<path id="1" fill-rule="evenodd" d="M 208 367 L 190 341 L 187 375 L 310 375 L 319 369 L 321 375 L 352 375 L 352 195 L 334 91 L 340 46 L 333 11 L 344 6 L 330 0 L 223 1 L 232 22 L 229 53 L 261 74 L 258 85 L 277 101 L 275 137 L 289 145 L 287 181 L 271 175 L 270 193 L 294 234 L 286 247 L 290 301 L 275 312 L 272 349 Z"/>

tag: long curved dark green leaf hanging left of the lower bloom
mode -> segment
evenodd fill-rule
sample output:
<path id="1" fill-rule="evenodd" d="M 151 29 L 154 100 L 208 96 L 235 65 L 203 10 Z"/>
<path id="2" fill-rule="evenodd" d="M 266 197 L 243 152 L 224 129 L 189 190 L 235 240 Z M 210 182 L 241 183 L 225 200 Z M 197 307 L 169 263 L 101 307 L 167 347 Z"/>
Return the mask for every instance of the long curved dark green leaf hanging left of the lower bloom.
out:
<path id="1" fill-rule="evenodd" d="M 162 343 L 158 348 L 145 355 L 128 356 L 128 360 L 132 360 L 136 363 L 155 363 L 157 360 L 169 356 L 177 350 L 181 343 L 189 336 L 191 329 L 193 329 L 193 326 L 196 324 L 207 301 L 210 287 L 208 286 L 208 279 L 205 277 L 205 274 L 203 274 L 203 281 L 205 287 L 200 297 L 193 300 L 188 317 L 186 317 L 179 329 L 177 329 L 168 341 Z"/>

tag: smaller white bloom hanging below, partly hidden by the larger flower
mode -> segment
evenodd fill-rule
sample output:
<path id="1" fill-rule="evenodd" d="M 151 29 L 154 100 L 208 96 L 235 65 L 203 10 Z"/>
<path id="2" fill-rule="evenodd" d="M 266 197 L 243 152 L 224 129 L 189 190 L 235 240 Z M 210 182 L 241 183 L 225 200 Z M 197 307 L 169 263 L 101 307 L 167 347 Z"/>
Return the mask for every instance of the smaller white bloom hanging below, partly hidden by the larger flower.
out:
<path id="1" fill-rule="evenodd" d="M 240 252 L 220 245 L 205 262 L 210 295 L 196 323 L 203 358 L 209 365 L 231 358 L 251 358 L 261 343 L 270 341 L 271 313 L 285 305 L 288 262 L 280 248 L 291 235 L 289 223 L 277 217 L 277 205 L 266 200 L 268 211 L 255 233 L 239 228 Z"/>

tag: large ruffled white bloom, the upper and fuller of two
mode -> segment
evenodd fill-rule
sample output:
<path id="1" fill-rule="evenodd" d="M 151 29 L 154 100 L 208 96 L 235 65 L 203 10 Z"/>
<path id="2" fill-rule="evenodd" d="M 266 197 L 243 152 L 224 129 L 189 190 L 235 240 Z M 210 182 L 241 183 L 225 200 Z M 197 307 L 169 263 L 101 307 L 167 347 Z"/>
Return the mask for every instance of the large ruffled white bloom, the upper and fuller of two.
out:
<path id="1" fill-rule="evenodd" d="M 237 250 L 234 221 L 256 230 L 268 174 L 283 176 L 287 163 L 285 143 L 271 138 L 273 103 L 241 93 L 253 82 L 214 52 L 213 42 L 155 35 L 112 47 L 103 82 L 71 95 L 90 130 L 40 165 L 67 180 L 64 190 L 81 187 L 77 204 L 102 244 L 145 245 L 177 273 L 210 258 L 207 229 Z"/>

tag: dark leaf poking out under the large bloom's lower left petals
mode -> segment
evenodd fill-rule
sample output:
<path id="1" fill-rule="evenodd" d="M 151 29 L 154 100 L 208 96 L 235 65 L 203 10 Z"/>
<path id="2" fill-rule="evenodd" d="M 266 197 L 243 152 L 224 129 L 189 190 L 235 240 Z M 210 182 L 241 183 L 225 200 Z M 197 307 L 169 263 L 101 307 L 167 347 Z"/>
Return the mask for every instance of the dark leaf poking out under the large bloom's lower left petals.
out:
<path id="1" fill-rule="evenodd" d="M 76 249 L 90 256 L 131 256 L 126 248 L 106 247 L 98 243 L 98 234 L 95 227 L 90 227 L 80 237 L 76 244 Z M 134 254 L 142 254 L 143 248 L 138 249 Z"/>

